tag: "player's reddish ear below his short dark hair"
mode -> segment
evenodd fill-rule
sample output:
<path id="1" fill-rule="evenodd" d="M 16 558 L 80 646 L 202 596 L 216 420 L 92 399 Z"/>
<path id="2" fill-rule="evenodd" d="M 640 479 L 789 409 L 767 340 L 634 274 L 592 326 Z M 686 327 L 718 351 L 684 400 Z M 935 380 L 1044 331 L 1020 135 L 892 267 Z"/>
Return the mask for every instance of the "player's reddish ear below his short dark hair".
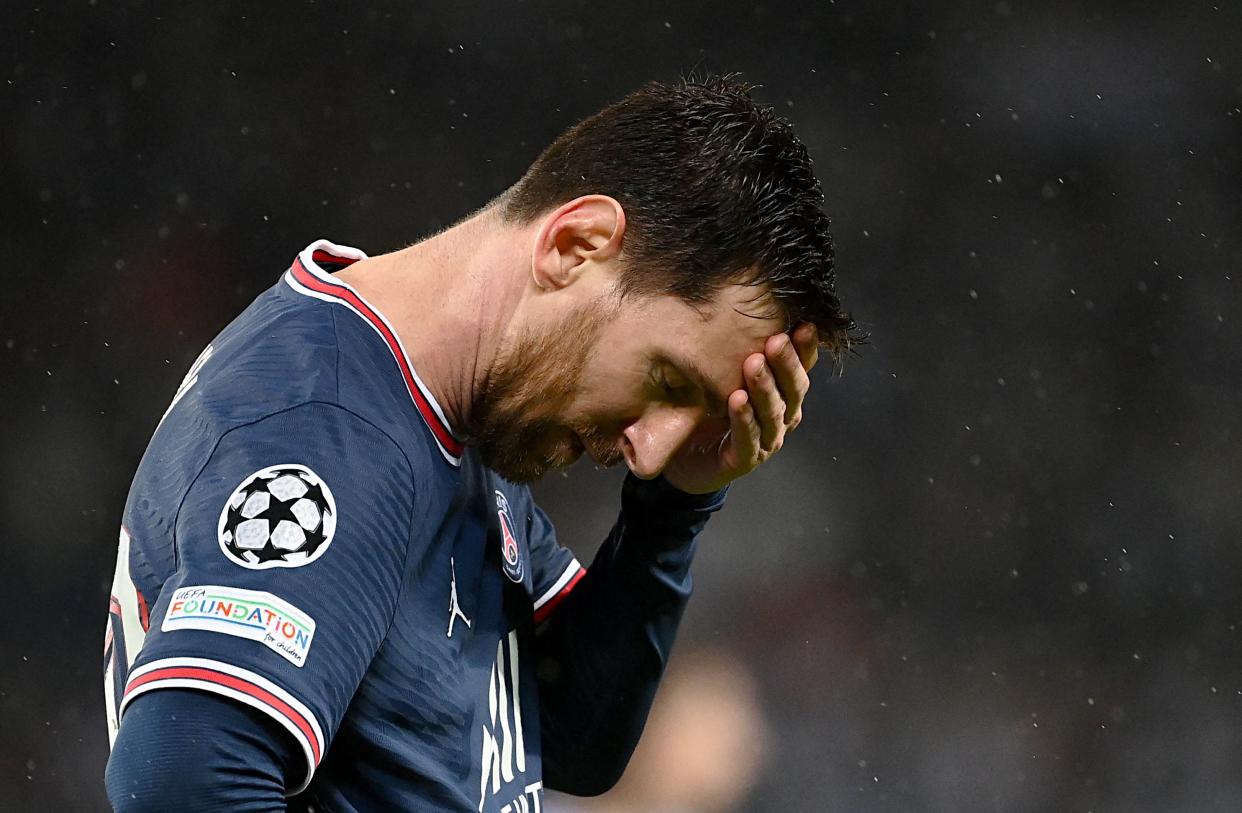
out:
<path id="1" fill-rule="evenodd" d="M 564 288 L 590 261 L 621 253 L 625 210 L 607 195 L 584 195 L 544 217 L 535 235 L 530 271 L 540 288 Z"/>

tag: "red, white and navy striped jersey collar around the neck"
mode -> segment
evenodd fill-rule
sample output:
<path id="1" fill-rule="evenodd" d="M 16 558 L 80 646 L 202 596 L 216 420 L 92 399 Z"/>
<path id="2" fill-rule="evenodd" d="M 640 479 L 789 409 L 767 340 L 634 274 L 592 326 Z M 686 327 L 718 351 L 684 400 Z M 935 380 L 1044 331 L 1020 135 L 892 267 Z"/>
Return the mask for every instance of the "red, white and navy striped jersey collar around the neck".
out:
<path id="1" fill-rule="evenodd" d="M 445 418 L 443 410 L 440 408 L 431 391 L 415 372 L 396 330 L 384 318 L 384 314 L 363 299 L 356 290 L 332 276 L 332 272 L 351 266 L 359 259 L 366 259 L 366 254 L 358 248 L 317 240 L 297 256 L 293 266 L 284 273 L 284 282 L 299 294 L 344 305 L 379 334 L 392 354 L 405 389 L 410 393 L 410 400 L 414 401 L 419 415 L 431 429 L 440 452 L 453 465 L 461 465 L 466 444 L 453 433 L 448 420 Z"/>

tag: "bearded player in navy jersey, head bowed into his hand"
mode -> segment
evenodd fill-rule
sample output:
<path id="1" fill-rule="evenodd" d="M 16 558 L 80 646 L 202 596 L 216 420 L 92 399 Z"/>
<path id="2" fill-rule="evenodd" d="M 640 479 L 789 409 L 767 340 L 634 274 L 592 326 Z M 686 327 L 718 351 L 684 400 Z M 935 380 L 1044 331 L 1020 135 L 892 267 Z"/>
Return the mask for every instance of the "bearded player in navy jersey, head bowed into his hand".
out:
<path id="1" fill-rule="evenodd" d="M 424 242 L 315 241 L 204 350 L 129 492 L 113 806 L 604 792 L 697 534 L 854 339 L 806 149 L 729 77 L 643 87 Z M 630 469 L 589 568 L 525 485 L 584 452 Z"/>

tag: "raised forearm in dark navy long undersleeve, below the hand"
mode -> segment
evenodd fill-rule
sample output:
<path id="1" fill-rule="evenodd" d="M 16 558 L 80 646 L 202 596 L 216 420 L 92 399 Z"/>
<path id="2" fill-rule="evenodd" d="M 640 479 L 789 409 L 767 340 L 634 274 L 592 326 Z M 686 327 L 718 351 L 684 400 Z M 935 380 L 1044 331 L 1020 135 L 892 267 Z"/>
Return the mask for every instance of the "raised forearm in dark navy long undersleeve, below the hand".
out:
<path id="1" fill-rule="evenodd" d="M 617 524 L 539 631 L 548 787 L 594 796 L 621 777 L 689 600 L 696 536 L 723 501 L 626 477 Z"/>

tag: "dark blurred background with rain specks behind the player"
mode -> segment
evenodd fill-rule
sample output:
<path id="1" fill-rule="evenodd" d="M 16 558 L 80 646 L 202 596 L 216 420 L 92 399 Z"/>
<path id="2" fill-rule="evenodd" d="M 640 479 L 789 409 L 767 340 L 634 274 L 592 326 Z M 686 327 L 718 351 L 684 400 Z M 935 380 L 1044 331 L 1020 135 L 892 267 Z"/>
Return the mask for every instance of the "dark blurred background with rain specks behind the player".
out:
<path id="1" fill-rule="evenodd" d="M 696 565 L 748 778 L 632 809 L 1242 807 L 1237 2 L 2 5 L 0 809 L 106 807 L 120 510 L 202 345 L 694 68 L 795 123 L 873 341 Z M 584 559 L 617 484 L 538 488 Z"/>

